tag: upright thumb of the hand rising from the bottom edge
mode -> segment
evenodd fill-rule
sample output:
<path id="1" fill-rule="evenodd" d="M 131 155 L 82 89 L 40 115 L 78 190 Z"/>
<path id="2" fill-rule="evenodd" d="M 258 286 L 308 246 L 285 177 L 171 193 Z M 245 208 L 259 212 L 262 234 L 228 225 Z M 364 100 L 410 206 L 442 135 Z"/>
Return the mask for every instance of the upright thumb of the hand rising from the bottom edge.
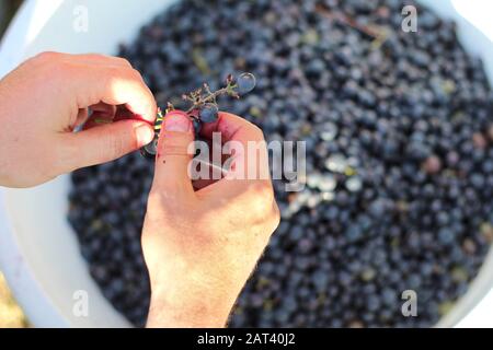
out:
<path id="1" fill-rule="evenodd" d="M 173 110 L 164 116 L 158 141 L 153 189 L 167 194 L 193 192 L 188 177 L 193 141 L 192 120 L 184 112 Z"/>

